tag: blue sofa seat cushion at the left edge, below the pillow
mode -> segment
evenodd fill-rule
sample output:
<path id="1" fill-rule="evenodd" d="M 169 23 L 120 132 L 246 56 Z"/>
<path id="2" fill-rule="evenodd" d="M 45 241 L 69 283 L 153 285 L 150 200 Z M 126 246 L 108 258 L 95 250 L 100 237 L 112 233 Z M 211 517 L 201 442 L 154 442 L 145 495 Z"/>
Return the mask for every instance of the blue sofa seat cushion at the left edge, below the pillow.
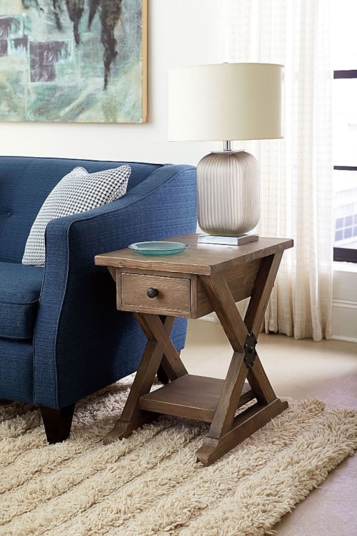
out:
<path id="1" fill-rule="evenodd" d="M 43 278 L 44 268 L 0 262 L 0 338 L 33 338 Z"/>

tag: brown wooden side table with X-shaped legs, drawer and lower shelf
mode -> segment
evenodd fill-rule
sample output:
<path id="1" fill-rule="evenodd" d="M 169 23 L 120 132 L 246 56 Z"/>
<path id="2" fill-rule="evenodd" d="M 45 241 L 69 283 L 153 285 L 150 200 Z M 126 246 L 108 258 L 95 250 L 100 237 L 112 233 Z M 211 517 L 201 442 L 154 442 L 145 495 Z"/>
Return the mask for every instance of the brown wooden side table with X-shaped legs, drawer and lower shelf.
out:
<path id="1" fill-rule="evenodd" d="M 274 393 L 256 343 L 283 252 L 293 241 L 259 238 L 221 246 L 198 243 L 196 234 L 168 240 L 190 247 L 170 256 L 126 248 L 95 258 L 116 281 L 117 308 L 132 311 L 147 338 L 124 410 L 104 443 L 129 436 L 157 413 L 203 420 L 211 428 L 196 455 L 210 465 L 288 407 Z M 249 297 L 243 319 L 236 302 Z M 233 348 L 225 380 L 188 374 L 169 338 L 175 317 L 200 318 L 212 311 Z M 169 383 L 150 393 L 159 366 Z"/>

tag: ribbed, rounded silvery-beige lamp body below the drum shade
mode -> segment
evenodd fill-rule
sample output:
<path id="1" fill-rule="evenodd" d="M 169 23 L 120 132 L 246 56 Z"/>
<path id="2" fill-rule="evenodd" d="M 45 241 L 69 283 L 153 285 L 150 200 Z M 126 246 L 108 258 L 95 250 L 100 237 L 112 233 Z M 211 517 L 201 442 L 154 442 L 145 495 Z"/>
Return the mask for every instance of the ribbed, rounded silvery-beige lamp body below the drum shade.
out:
<path id="1" fill-rule="evenodd" d="M 197 166 L 198 226 L 215 236 L 241 236 L 259 221 L 259 165 L 246 151 L 203 156 Z"/>

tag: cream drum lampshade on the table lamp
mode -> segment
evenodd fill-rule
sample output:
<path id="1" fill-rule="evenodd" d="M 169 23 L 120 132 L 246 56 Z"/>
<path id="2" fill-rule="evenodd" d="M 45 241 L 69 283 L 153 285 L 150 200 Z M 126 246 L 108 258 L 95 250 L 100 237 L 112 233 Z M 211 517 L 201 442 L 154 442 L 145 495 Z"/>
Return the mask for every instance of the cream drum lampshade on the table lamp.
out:
<path id="1" fill-rule="evenodd" d="M 282 138 L 277 64 L 169 70 L 169 141 Z"/>

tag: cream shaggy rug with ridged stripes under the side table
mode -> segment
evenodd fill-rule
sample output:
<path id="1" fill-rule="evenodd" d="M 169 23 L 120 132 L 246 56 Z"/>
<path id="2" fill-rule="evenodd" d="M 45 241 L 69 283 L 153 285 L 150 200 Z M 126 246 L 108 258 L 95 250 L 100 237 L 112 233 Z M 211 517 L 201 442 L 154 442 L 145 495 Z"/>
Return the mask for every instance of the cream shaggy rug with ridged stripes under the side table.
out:
<path id="1" fill-rule="evenodd" d="M 0 407 L 1 536 L 263 535 L 357 448 L 357 412 L 290 408 L 210 467 L 207 425 L 161 417 L 104 446 L 131 378 L 76 408 L 47 445 L 38 410 Z"/>

